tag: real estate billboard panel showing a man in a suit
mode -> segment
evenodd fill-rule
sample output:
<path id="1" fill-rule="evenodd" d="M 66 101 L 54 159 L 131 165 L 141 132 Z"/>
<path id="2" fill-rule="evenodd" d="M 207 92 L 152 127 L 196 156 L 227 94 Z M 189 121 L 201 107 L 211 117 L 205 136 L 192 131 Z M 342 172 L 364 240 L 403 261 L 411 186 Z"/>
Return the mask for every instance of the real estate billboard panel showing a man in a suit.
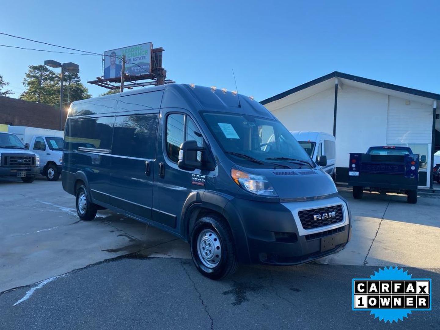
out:
<path id="1" fill-rule="evenodd" d="M 125 73 L 130 76 L 149 74 L 151 70 L 150 42 L 112 49 L 104 52 L 104 79 L 121 77 L 122 56 L 125 55 Z"/>

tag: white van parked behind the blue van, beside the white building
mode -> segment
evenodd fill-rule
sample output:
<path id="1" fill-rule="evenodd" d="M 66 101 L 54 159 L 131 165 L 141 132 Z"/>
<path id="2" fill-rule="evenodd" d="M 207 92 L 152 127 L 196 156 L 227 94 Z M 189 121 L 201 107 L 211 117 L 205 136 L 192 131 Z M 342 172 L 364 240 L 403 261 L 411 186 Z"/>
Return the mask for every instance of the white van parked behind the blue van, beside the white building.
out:
<path id="1" fill-rule="evenodd" d="M 327 165 L 323 169 L 334 177 L 336 163 L 336 141 L 334 136 L 324 132 L 312 131 L 291 131 L 290 133 L 315 162 L 319 161 L 321 156 L 326 156 Z"/>

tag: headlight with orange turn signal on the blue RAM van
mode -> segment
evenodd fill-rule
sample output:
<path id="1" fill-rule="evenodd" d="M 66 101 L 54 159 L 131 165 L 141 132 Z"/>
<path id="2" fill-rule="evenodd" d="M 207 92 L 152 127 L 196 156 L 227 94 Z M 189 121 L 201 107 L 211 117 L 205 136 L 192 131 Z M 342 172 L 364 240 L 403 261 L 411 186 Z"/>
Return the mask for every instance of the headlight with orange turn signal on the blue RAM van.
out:
<path id="1" fill-rule="evenodd" d="M 278 196 L 265 176 L 248 173 L 233 167 L 231 177 L 235 183 L 250 193 L 271 197 Z"/>

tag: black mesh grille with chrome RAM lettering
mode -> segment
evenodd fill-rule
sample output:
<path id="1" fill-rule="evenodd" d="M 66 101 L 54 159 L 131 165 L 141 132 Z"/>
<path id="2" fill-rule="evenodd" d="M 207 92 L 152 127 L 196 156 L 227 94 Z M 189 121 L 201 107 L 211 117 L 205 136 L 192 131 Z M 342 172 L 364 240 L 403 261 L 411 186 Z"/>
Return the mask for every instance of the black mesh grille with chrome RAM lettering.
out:
<path id="1" fill-rule="evenodd" d="M 344 220 L 341 205 L 299 211 L 298 216 L 304 229 L 324 227 Z"/>

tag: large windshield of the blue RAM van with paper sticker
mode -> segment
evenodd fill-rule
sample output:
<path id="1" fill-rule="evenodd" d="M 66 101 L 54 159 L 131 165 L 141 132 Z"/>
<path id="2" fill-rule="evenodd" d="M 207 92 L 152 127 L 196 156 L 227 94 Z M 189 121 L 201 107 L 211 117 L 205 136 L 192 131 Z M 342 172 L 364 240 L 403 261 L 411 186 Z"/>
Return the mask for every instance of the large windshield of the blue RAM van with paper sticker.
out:
<path id="1" fill-rule="evenodd" d="M 246 165 L 283 164 L 315 167 L 292 134 L 279 121 L 242 114 L 203 114 L 228 156 Z M 249 163 L 249 164 L 247 164 Z"/>

